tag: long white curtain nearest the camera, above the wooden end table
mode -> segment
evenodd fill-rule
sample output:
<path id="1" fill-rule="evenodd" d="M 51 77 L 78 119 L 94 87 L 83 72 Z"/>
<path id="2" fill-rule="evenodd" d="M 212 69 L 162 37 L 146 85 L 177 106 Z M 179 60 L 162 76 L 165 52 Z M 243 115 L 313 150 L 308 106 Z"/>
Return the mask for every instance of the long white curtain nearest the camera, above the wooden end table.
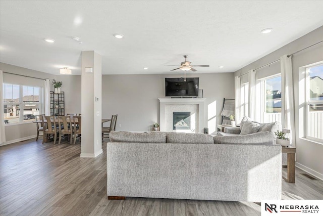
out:
<path id="1" fill-rule="evenodd" d="M 292 143 L 295 140 L 295 115 L 294 115 L 294 91 L 292 57 L 281 57 L 282 74 L 282 125 L 290 129 L 289 138 Z"/>

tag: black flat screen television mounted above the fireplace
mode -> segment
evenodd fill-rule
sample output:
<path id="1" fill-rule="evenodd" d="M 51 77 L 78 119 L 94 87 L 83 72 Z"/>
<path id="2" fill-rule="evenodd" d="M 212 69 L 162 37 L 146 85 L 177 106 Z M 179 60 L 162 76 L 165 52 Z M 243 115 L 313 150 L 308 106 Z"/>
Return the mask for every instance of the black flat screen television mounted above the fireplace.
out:
<path id="1" fill-rule="evenodd" d="M 166 97 L 198 97 L 198 77 L 165 78 Z"/>

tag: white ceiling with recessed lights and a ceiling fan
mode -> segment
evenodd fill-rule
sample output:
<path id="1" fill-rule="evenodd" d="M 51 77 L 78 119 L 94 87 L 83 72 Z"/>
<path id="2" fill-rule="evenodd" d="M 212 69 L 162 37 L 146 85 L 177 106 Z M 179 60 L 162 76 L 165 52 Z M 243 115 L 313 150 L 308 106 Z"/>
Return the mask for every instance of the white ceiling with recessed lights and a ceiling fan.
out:
<path id="1" fill-rule="evenodd" d="M 183 55 L 210 65 L 189 73 L 234 72 L 322 26 L 322 11 L 323 1 L 1 1 L 0 61 L 78 75 L 94 50 L 102 74 L 182 73 L 164 64 Z"/>

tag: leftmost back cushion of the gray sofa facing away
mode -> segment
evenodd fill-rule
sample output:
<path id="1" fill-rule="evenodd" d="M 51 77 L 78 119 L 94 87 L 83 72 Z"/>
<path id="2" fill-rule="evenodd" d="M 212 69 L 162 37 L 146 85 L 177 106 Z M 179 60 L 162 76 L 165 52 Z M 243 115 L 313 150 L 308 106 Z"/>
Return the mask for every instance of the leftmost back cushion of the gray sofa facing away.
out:
<path id="1" fill-rule="evenodd" d="M 134 133 L 125 131 L 110 132 L 111 142 L 130 142 L 130 143 L 166 143 L 167 133 Z"/>

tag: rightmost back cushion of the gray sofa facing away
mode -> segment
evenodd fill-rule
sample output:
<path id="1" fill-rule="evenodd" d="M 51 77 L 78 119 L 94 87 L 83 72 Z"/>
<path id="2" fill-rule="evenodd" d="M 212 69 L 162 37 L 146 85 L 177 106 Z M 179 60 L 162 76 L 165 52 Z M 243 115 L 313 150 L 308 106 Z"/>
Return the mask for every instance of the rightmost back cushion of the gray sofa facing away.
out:
<path id="1" fill-rule="evenodd" d="M 216 144 L 274 144 L 274 136 L 270 132 L 259 132 L 242 136 L 215 136 Z"/>

